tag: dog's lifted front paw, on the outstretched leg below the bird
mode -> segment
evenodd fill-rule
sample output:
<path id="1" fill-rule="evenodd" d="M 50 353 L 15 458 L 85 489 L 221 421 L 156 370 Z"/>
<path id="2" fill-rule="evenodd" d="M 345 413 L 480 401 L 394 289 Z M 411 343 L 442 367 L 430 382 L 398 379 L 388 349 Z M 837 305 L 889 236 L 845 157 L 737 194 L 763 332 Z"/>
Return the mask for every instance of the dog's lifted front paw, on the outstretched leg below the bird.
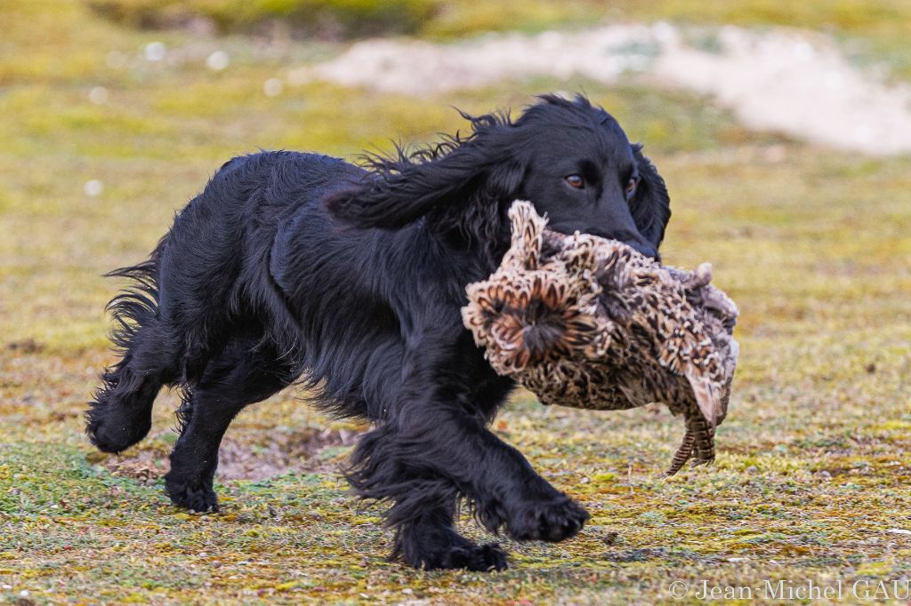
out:
<path id="1" fill-rule="evenodd" d="M 508 520 L 507 531 L 515 540 L 568 539 L 582 529 L 589 512 L 565 494 L 551 500 L 532 501 Z"/>

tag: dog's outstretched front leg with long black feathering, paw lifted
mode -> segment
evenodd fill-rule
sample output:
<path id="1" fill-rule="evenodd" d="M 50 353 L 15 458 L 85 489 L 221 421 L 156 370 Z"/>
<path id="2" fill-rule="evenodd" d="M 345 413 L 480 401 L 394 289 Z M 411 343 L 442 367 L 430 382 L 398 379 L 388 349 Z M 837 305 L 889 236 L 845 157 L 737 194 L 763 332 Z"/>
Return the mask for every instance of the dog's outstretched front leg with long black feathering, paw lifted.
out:
<path id="1" fill-rule="evenodd" d="M 589 514 L 487 429 L 485 407 L 472 393 L 494 376 L 477 356 L 472 346 L 424 348 L 408 357 L 394 404 L 355 449 L 354 488 L 394 502 L 387 520 L 400 541 L 440 536 L 427 520 L 442 518 L 427 513 L 451 508 L 459 496 L 488 530 L 505 528 L 517 540 L 571 537 Z M 411 532 L 417 527 L 423 531 Z"/>

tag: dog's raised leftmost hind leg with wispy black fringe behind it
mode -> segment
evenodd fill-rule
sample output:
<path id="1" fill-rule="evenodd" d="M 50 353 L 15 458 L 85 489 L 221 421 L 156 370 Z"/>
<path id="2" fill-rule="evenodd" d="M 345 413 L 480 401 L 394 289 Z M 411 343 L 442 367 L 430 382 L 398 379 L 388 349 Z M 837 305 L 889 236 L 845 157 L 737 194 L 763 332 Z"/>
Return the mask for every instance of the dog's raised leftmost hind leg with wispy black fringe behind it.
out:
<path id="1" fill-rule="evenodd" d="M 120 359 L 101 374 L 101 387 L 89 402 L 86 433 L 98 449 L 119 452 L 143 439 L 151 427 L 152 403 L 172 365 L 167 335 L 159 322 L 158 268 L 165 239 L 148 260 L 106 274 L 133 285 L 111 299 L 110 338 Z"/>

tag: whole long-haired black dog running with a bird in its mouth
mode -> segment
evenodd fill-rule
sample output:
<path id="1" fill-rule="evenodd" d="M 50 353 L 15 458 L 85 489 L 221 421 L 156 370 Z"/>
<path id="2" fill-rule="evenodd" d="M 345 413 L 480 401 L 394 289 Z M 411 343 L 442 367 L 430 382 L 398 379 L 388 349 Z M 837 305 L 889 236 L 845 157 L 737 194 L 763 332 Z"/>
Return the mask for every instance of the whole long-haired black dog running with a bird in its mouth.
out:
<path id="1" fill-rule="evenodd" d="M 371 419 L 348 478 L 388 500 L 394 555 L 415 567 L 506 568 L 496 543 L 454 527 L 466 499 L 486 529 L 563 540 L 589 514 L 486 429 L 514 385 L 462 326 L 469 282 L 509 243 L 507 207 L 550 226 L 623 240 L 655 257 L 670 217 L 650 161 L 581 96 L 513 121 L 469 117 L 470 136 L 411 157 L 342 160 L 266 152 L 230 160 L 185 207 L 138 286 L 113 301 L 122 359 L 87 412 L 99 449 L 142 439 L 163 385 L 185 390 L 166 489 L 217 509 L 212 479 L 231 419 L 305 377 L 317 405 Z"/>

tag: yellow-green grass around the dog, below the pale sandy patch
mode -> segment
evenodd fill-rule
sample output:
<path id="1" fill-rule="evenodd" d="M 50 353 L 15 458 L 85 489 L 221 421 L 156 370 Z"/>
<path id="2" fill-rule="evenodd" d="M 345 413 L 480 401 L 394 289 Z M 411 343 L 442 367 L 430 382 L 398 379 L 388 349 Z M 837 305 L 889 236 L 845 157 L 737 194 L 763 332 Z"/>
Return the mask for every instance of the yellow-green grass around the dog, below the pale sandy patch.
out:
<path id="1" fill-rule="evenodd" d="M 242 36 L 200 42 L 75 2 L 38 5 L 0 6 L 0 601 L 652 603 L 670 601 L 672 581 L 850 588 L 911 567 L 911 537 L 889 532 L 911 529 L 911 158 L 804 146 L 747 132 L 704 99 L 578 80 L 445 100 L 324 85 L 271 97 L 265 80 L 326 47 L 274 56 Z M 156 40 L 184 59 L 146 61 Z M 216 48 L 231 63 L 211 72 Z M 96 86 L 106 103 L 89 101 Z M 497 433 L 592 520 L 557 545 L 501 538 L 512 568 L 484 575 L 384 561 L 380 510 L 359 507 L 333 471 L 345 446 L 302 455 L 302 471 L 220 480 L 223 510 L 205 517 L 171 507 L 157 477 L 174 396 L 125 455 L 149 461 L 145 473 L 114 472 L 88 446 L 80 415 L 112 361 L 102 308 L 118 287 L 98 276 L 144 258 L 226 158 L 388 149 L 390 136 L 464 127 L 449 104 L 480 112 L 578 87 L 666 177 L 668 262 L 710 259 L 742 308 L 711 469 L 659 479 L 681 421 L 658 407 L 590 413 L 519 397 Z M 89 179 L 99 196 L 84 192 Z M 286 392 L 245 411 L 229 439 L 265 458 L 271 428 L 292 440 L 326 425 Z"/>

